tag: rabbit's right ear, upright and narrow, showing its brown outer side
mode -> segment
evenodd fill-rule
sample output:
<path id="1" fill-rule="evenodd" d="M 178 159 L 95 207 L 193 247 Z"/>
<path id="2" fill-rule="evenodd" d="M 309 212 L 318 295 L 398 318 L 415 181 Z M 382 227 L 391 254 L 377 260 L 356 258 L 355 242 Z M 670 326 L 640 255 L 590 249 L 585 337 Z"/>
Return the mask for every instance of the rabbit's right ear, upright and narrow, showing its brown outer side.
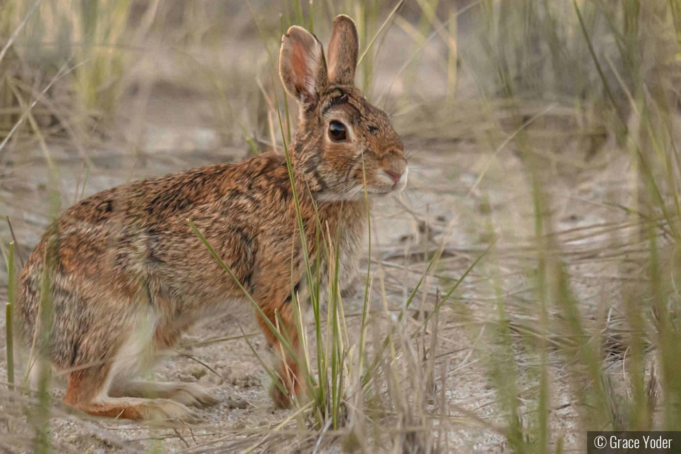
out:
<path id="1" fill-rule="evenodd" d="M 332 84 L 355 85 L 355 68 L 360 50 L 355 22 L 340 14 L 334 20 L 329 42 L 329 80 Z"/>

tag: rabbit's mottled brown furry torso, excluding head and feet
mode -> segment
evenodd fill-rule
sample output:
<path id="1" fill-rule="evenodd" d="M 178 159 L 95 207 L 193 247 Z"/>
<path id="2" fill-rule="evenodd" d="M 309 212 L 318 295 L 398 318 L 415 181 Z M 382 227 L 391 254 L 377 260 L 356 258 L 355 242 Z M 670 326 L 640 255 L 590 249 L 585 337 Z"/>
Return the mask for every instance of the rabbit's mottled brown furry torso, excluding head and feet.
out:
<path id="1" fill-rule="evenodd" d="M 306 200 L 301 198 L 301 209 L 310 223 L 315 210 Z M 197 319 L 244 306 L 241 290 L 188 219 L 247 288 L 266 281 L 263 273 L 290 273 L 268 269 L 268 262 L 282 256 L 291 263 L 296 226 L 281 155 L 114 187 L 65 211 L 31 254 L 20 276 L 16 311 L 27 339 L 39 327 L 39 295 L 46 283 L 54 308 L 52 361 L 60 367 L 115 351 L 97 339 L 111 342 L 112 333 L 129 332 L 140 311 L 151 311 L 161 337 L 168 337 L 158 342 L 172 344 Z M 48 279 L 42 279 L 45 263 Z"/>

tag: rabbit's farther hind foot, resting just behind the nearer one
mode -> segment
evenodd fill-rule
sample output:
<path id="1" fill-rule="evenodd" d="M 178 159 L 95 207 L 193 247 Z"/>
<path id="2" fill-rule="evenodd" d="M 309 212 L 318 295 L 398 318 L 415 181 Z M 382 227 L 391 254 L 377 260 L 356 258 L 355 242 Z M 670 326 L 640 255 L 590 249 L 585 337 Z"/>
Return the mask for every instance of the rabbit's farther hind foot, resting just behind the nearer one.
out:
<path id="1" fill-rule="evenodd" d="M 141 397 L 148 399 L 172 399 L 185 406 L 206 408 L 217 404 L 217 399 L 195 383 L 147 382 L 131 380 L 114 384 L 111 397 Z"/>

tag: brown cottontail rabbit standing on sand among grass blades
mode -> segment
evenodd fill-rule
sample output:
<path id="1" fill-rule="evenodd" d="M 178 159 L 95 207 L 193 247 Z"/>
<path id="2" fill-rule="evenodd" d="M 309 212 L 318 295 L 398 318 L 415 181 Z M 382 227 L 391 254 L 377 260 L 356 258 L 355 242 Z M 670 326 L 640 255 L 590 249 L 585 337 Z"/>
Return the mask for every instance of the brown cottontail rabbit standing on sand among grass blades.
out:
<path id="1" fill-rule="evenodd" d="M 373 198 L 403 190 L 408 174 L 389 118 L 354 85 L 358 50 L 355 24 L 341 15 L 334 20 L 328 63 L 315 35 L 297 26 L 282 37 L 279 62 L 283 85 L 300 105 L 289 155 L 308 254 L 328 267 L 329 254 L 325 258 L 315 249 L 315 238 L 338 238 L 340 282 L 351 282 L 358 271 L 365 179 Z M 197 384 L 136 379 L 193 324 L 253 309 L 187 220 L 272 324 L 279 314 L 298 348 L 291 285 L 304 295 L 305 271 L 285 156 L 262 153 L 236 164 L 136 181 L 67 209 L 20 274 L 18 325 L 38 351 L 43 348 L 38 330 L 49 320 L 40 312 L 42 291 L 51 299 L 47 361 L 67 376 L 67 406 L 101 417 L 194 421 L 198 416 L 189 406 L 215 403 Z M 256 316 L 268 345 L 280 354 L 277 367 L 286 392 L 272 387 L 272 399 L 286 407 L 304 382 Z"/>

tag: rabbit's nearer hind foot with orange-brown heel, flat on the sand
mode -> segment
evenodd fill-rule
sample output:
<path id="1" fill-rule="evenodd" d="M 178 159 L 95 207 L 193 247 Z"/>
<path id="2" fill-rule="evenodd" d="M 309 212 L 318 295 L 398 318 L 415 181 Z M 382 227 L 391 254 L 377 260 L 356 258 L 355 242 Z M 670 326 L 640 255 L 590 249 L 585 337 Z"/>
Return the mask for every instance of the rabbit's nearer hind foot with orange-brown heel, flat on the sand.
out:
<path id="1" fill-rule="evenodd" d="M 93 416 L 116 419 L 185 422 L 199 419 L 193 410 L 174 400 L 111 397 L 106 390 L 110 372 L 108 364 L 72 372 L 64 403 Z"/>

